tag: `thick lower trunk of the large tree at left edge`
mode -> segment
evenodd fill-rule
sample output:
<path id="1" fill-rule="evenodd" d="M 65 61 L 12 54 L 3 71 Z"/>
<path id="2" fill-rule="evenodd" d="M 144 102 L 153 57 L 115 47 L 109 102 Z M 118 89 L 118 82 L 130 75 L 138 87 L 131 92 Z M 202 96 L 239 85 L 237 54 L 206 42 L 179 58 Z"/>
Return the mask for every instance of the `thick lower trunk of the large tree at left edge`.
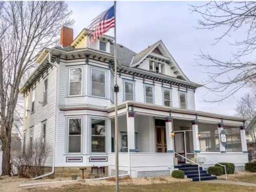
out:
<path id="1" fill-rule="evenodd" d="M 2 160 L 2 176 L 11 175 L 11 129 L 9 129 L 7 137 L 3 141 L 3 160 Z"/>

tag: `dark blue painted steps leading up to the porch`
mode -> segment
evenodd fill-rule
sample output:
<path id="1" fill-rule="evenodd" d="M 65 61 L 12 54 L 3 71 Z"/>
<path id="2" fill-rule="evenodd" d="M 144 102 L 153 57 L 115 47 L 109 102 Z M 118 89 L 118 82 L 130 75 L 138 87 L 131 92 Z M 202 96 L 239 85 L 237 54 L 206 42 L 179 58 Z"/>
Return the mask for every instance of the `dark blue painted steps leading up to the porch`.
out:
<path id="1" fill-rule="evenodd" d="M 184 171 L 184 174 L 187 176 L 187 178 L 192 179 L 193 181 L 199 181 L 198 165 L 181 164 L 175 165 L 174 167 Z M 202 169 L 202 167 L 199 167 L 199 169 L 201 181 L 217 179 L 217 177 L 208 174 L 205 170 Z"/>

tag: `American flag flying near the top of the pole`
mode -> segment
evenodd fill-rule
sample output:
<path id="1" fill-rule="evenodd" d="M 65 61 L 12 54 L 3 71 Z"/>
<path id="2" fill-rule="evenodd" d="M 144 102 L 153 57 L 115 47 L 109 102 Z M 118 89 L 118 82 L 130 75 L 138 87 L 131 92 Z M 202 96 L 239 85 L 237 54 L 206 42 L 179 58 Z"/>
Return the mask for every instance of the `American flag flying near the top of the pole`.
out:
<path id="1" fill-rule="evenodd" d="M 111 28 L 115 27 L 115 7 L 112 6 L 108 10 L 102 12 L 95 17 L 88 29 L 91 31 L 91 42 L 102 34 L 108 32 Z"/>

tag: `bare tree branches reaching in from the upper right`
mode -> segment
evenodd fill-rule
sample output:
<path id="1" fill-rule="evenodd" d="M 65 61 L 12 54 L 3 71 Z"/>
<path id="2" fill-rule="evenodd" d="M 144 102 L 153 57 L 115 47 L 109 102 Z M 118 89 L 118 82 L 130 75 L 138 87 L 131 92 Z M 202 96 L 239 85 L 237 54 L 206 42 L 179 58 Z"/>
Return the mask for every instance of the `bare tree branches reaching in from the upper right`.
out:
<path id="1" fill-rule="evenodd" d="M 227 60 L 201 52 L 200 59 L 210 61 L 199 63 L 206 68 L 209 77 L 205 82 L 206 88 L 221 96 L 215 101 L 222 101 L 248 85 L 255 86 L 256 63 L 246 56 L 253 56 L 256 49 L 256 2 L 208 2 L 202 6 L 191 5 L 190 8 L 202 17 L 198 20 L 198 29 L 223 30 L 223 34 L 215 38 L 216 43 L 238 31 L 245 32 L 241 39 L 229 42 L 237 52 Z"/>

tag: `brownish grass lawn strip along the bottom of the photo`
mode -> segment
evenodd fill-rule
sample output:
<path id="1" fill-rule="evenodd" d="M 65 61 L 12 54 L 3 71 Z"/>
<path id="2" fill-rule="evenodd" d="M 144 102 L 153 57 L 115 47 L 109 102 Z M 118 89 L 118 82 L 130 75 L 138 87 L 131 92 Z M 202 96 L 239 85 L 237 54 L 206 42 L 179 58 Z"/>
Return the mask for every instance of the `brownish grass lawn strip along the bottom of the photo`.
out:
<path id="1" fill-rule="evenodd" d="M 47 189 L 33 188 L 29 191 L 47 191 Z M 48 189 L 49 191 L 49 189 Z M 115 186 L 87 186 L 83 184 L 74 184 L 66 185 L 61 188 L 53 188 L 50 191 L 52 192 L 112 192 L 115 191 Z M 239 186 L 239 185 L 226 185 L 226 184 L 208 184 L 208 183 L 199 183 L 199 182 L 188 182 L 188 183 L 172 183 L 172 184 L 151 184 L 151 185 L 121 185 L 120 191 L 132 191 L 132 192 L 211 192 L 211 191 L 256 191 L 255 187 Z"/>

